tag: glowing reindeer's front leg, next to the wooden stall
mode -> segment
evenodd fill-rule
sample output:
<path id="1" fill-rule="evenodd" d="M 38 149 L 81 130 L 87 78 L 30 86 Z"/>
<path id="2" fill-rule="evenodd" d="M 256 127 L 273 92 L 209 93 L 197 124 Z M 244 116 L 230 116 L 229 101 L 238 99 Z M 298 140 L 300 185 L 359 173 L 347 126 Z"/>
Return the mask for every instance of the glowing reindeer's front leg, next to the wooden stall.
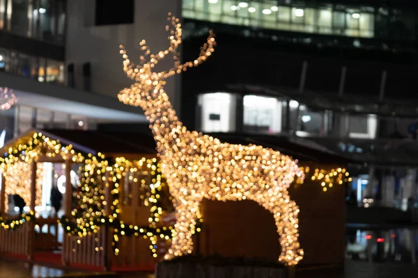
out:
<path id="1" fill-rule="evenodd" d="M 193 233 L 196 229 L 197 215 L 199 215 L 199 201 L 187 196 L 177 199 L 176 218 L 174 225 L 173 240 L 169 252 L 164 259 L 172 259 L 175 256 L 191 254 L 193 251 Z"/>

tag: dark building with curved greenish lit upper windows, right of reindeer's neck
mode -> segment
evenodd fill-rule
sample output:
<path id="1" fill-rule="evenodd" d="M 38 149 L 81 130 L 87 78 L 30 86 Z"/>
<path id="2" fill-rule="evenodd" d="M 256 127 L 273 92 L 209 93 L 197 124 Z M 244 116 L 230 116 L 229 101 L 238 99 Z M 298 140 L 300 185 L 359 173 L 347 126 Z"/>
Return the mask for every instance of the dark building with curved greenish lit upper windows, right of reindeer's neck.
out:
<path id="1" fill-rule="evenodd" d="M 412 1 L 184 0 L 185 60 L 210 28 L 218 47 L 182 77 L 183 120 L 320 145 L 353 161 L 348 199 L 406 209 L 417 199 L 417 11 Z"/>

